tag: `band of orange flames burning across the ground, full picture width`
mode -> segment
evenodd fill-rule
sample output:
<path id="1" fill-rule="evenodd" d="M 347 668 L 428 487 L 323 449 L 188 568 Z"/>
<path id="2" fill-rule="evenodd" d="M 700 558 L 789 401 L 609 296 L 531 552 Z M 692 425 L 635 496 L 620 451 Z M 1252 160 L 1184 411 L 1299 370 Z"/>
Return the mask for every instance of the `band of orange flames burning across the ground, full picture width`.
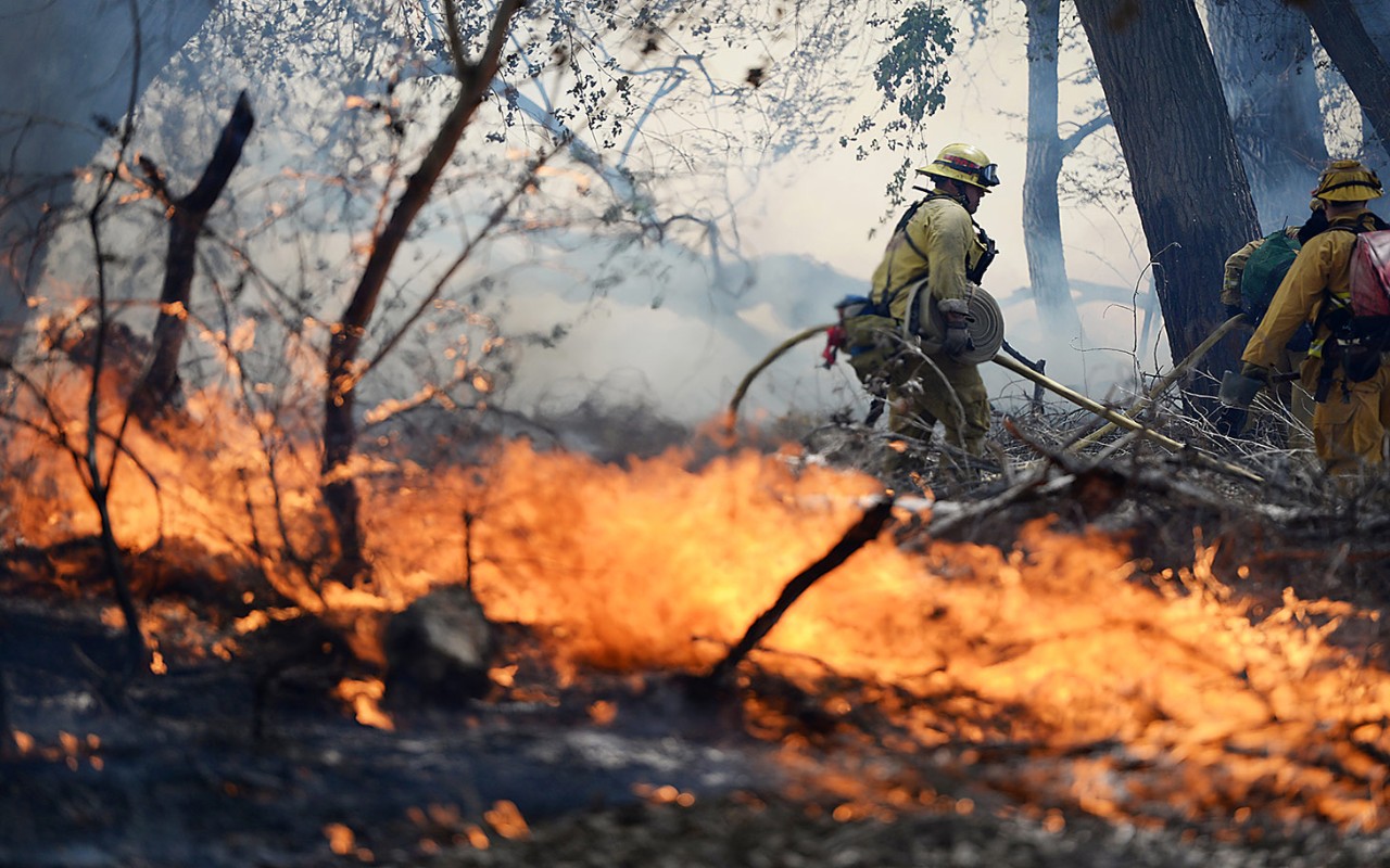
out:
<path id="1" fill-rule="evenodd" d="M 118 537 L 143 547 L 177 531 L 285 572 L 277 529 L 303 540 L 321 519 L 313 462 L 297 458 L 313 450 L 281 450 L 272 471 L 259 422 L 218 407 L 193 404 L 215 418 L 217 450 L 188 449 L 211 425 L 126 440 L 139 465 L 122 460 L 113 490 Z M 39 461 L 35 440 L 8 447 L 38 471 L 11 492 L 13 528 L 39 544 L 90 531 L 71 465 Z M 788 456 L 694 467 L 687 454 L 617 467 L 512 443 L 482 468 L 367 468 L 368 604 L 400 608 L 470 581 L 492 618 L 543 628 L 566 672 L 706 671 L 878 486 Z M 152 481 L 161 510 L 150 508 Z M 1390 678 L 1329 642 L 1339 622 L 1371 615 L 1290 592 L 1254 618 L 1227 590 L 1240 578 L 1212 574 L 1212 549 L 1194 553 L 1188 569 L 1151 574 L 1120 540 L 1047 522 L 1008 551 L 934 542 L 910 554 L 880 539 L 815 585 L 756 662 L 810 694 L 831 674 L 867 685 L 824 693 L 827 714 L 874 706 L 905 753 L 1045 754 L 1011 769 L 1020 779 L 1009 786 L 1038 803 L 1386 826 Z M 364 596 L 324 593 L 318 604 Z"/>

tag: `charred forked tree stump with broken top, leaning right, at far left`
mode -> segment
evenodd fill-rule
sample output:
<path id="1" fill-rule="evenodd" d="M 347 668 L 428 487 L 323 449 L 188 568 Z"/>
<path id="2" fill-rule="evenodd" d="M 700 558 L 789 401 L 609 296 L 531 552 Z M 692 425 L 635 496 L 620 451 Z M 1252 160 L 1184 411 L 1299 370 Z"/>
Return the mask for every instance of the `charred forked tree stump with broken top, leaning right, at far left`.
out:
<path id="1" fill-rule="evenodd" d="M 254 124 L 252 104 L 243 90 L 197 186 L 178 200 L 168 197 L 158 169 L 147 160 L 140 161 L 150 182 L 170 206 L 170 246 L 164 257 L 160 318 L 154 325 L 154 357 L 131 394 L 131 414 L 142 421 L 157 417 L 178 400 L 178 360 L 188 333 L 189 296 L 197 271 L 197 239 L 207 222 L 207 212 L 222 194 L 242 158 L 242 149 Z"/>

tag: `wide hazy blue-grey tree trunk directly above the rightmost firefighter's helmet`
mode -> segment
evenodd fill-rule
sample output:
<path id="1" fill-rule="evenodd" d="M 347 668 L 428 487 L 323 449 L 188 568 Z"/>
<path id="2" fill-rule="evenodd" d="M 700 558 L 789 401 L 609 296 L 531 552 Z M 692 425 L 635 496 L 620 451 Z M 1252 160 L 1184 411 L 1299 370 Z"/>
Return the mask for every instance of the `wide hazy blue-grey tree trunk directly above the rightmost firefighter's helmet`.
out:
<path id="1" fill-rule="evenodd" d="M 1280 0 L 1212 0 L 1207 25 L 1262 231 L 1298 225 L 1327 162 L 1308 21 Z"/>

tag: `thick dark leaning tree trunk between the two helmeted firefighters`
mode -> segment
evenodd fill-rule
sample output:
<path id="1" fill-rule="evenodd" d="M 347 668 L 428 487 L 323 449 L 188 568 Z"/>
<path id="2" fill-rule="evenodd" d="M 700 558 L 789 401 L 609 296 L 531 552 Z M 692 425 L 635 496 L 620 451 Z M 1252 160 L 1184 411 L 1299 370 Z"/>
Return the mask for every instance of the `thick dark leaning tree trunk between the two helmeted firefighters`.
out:
<path id="1" fill-rule="evenodd" d="M 1216 64 L 1191 0 L 1076 0 L 1115 121 L 1173 358 L 1220 321 L 1230 251 L 1259 233 Z M 1234 364 L 1237 347 L 1204 369 Z M 1213 389 L 1212 389 L 1213 390 Z"/>

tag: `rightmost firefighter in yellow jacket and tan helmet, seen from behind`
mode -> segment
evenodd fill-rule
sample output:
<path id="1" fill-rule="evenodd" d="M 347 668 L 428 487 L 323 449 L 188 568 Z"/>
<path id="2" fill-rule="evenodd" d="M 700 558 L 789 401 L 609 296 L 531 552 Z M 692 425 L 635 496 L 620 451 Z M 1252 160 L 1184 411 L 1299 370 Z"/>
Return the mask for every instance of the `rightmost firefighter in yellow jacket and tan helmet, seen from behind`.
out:
<path id="1" fill-rule="evenodd" d="M 1312 339 L 1300 367 L 1300 383 L 1316 401 L 1314 449 L 1329 474 L 1348 475 L 1383 461 L 1383 440 L 1390 429 L 1384 343 L 1377 343 L 1366 328 L 1369 318 L 1355 315 L 1359 303 L 1352 304 L 1354 294 L 1377 292 L 1366 290 L 1362 278 L 1354 292 L 1352 260 L 1362 247 L 1358 239 L 1390 225 L 1366 210 L 1383 189 L 1376 174 L 1355 160 L 1329 164 L 1312 194 L 1323 203 L 1327 229 L 1302 243 L 1245 344 L 1240 376 L 1223 383 L 1222 399 L 1229 406 L 1248 407 L 1255 393 L 1269 385 L 1289 342 L 1308 325 Z"/>

